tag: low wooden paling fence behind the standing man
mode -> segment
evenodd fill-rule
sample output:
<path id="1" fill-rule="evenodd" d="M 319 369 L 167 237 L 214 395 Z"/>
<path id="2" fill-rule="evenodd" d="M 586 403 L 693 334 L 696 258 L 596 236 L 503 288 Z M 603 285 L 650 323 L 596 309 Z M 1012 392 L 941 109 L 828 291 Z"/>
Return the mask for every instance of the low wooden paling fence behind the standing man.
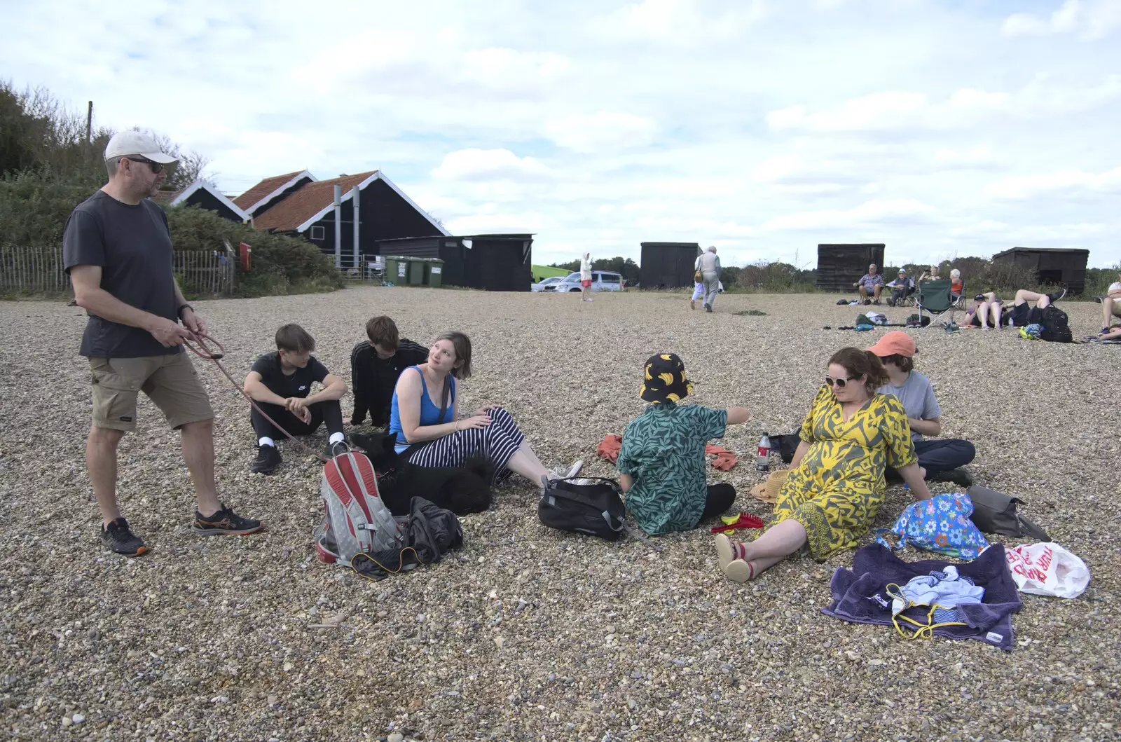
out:
<path id="1" fill-rule="evenodd" d="M 179 288 L 191 296 L 230 296 L 237 265 L 224 251 L 175 252 L 173 270 Z M 65 294 L 70 276 L 63 269 L 63 250 L 56 248 L 0 248 L 0 294 Z"/>

